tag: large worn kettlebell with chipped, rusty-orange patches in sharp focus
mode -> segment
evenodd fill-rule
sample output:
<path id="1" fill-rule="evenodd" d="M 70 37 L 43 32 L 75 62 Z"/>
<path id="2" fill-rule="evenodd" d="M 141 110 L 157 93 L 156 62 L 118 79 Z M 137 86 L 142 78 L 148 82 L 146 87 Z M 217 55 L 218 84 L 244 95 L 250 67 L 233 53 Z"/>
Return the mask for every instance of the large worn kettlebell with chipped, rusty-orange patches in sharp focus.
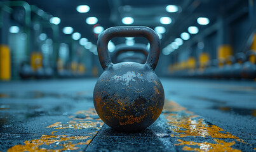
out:
<path id="1" fill-rule="evenodd" d="M 150 43 L 144 64 L 112 63 L 107 49 L 113 37 L 145 37 Z M 123 132 L 143 130 L 161 114 L 165 94 L 154 69 L 161 44 L 158 34 L 148 27 L 111 27 L 99 35 L 97 51 L 104 69 L 93 91 L 98 116 L 112 129 Z"/>

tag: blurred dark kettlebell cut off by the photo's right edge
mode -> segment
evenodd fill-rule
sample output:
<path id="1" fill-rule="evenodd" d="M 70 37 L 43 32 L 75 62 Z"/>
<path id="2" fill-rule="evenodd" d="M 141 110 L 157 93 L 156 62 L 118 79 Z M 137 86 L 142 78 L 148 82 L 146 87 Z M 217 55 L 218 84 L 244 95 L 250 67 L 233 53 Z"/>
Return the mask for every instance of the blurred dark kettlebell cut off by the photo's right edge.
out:
<path id="1" fill-rule="evenodd" d="M 243 63 L 242 77 L 245 79 L 256 78 L 256 53 L 250 50 L 246 53 L 247 61 Z"/>

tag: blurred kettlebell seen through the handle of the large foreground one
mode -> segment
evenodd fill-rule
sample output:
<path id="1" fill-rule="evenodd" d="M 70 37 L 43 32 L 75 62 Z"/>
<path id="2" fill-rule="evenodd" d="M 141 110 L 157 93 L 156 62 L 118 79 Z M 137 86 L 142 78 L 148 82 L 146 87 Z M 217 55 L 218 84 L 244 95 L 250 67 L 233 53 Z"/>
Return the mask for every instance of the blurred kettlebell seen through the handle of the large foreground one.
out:
<path id="1" fill-rule="evenodd" d="M 123 61 L 145 63 L 148 52 L 149 51 L 145 44 L 134 44 L 133 46 L 119 44 L 116 46 L 115 51 L 111 54 L 111 60 L 112 63 L 119 63 Z"/>

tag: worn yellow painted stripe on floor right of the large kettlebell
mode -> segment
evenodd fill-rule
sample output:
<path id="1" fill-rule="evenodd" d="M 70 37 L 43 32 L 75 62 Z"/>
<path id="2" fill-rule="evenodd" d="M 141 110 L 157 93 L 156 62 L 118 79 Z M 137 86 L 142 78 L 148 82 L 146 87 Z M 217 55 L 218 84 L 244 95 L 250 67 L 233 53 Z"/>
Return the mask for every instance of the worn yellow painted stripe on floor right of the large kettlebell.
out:
<path id="1" fill-rule="evenodd" d="M 165 101 L 163 110 L 169 129 L 172 130 L 171 137 L 178 137 L 179 143 L 175 146 L 183 146 L 184 151 L 241 151 L 231 146 L 236 141 L 245 143 L 243 139 L 233 136 L 220 127 L 208 124 L 204 118 L 195 115 L 186 108 L 178 105 L 174 101 Z M 206 140 L 212 140 L 212 143 L 204 142 L 204 139 L 198 139 L 202 142 L 194 142 L 197 137 L 205 137 Z M 185 140 L 182 140 L 184 138 Z M 231 139 L 226 142 L 222 139 Z M 247 143 L 245 143 L 247 144 Z"/>

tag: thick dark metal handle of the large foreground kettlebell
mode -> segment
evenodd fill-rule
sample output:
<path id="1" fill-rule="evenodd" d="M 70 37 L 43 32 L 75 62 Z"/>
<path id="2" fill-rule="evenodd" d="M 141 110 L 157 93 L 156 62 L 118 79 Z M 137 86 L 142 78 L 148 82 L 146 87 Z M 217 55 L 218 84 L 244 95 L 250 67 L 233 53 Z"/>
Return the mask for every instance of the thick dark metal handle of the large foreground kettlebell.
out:
<path id="1" fill-rule="evenodd" d="M 150 44 L 149 55 L 144 65 L 148 65 L 152 70 L 156 68 L 160 55 L 161 44 L 158 34 L 149 27 L 131 26 L 131 27 L 111 27 L 102 32 L 97 41 L 98 58 L 102 68 L 112 66 L 113 63 L 109 56 L 107 45 L 113 37 L 145 37 Z"/>

